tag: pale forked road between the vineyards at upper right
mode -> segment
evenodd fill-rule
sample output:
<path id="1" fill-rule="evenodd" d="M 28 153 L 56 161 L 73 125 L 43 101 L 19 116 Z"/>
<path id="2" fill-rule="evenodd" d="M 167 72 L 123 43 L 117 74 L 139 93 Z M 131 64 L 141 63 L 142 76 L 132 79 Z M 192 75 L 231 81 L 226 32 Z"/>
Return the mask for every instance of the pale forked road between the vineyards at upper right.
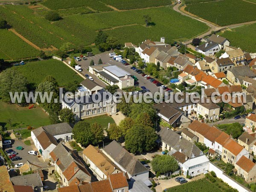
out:
<path id="1" fill-rule="evenodd" d="M 187 17 L 191 17 L 191 18 L 193 18 L 193 19 L 195 19 L 195 20 L 198 20 L 198 21 L 200 21 L 200 22 L 202 22 L 202 23 L 207 24 L 207 26 L 210 27 L 209 31 L 205 32 L 205 33 L 202 34 L 202 35 L 199 35 L 198 38 L 203 38 L 203 37 L 205 37 L 205 36 L 207 36 L 207 35 L 210 35 L 210 34 L 212 33 L 212 31 L 218 31 L 218 30 L 225 29 L 225 28 L 234 28 L 234 27 L 239 27 L 239 26 L 243 26 L 243 25 L 247 25 L 247 24 L 256 23 L 256 20 L 254 20 L 254 21 L 249 21 L 249 22 L 244 22 L 244 23 L 237 23 L 237 24 L 232 24 L 232 25 L 227 25 L 227 26 L 215 26 L 214 24 L 212 24 L 212 23 L 210 23 L 210 22 L 208 22 L 208 21 L 206 21 L 206 20 L 202 20 L 201 18 L 197 18 L 197 17 L 194 17 L 194 16 L 192 16 L 192 15 L 187 15 L 186 13 L 180 11 L 180 9 L 179 9 L 180 6 L 181 6 L 181 3 L 177 3 L 177 4 L 173 7 L 173 9 L 174 9 L 176 12 L 180 13 L 181 15 L 185 15 L 185 16 L 187 16 Z M 190 43 L 192 43 L 192 39 L 190 39 L 190 40 L 188 40 L 188 41 L 185 41 L 185 42 L 183 42 L 183 43 L 184 43 L 184 44 L 190 44 Z"/>

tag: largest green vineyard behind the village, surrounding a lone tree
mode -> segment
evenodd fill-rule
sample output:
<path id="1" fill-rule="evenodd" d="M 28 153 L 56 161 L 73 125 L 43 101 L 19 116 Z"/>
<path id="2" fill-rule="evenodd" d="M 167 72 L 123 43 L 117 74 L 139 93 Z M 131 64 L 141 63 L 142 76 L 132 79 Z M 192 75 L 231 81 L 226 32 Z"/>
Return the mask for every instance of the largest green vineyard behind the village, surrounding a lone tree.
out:
<path id="1" fill-rule="evenodd" d="M 152 22 L 154 22 L 150 27 L 145 27 L 143 19 L 143 15 L 147 14 L 151 16 Z M 204 23 L 180 15 L 172 7 L 73 15 L 54 24 L 72 30 L 73 34 L 79 38 L 91 36 L 93 37 L 91 38 L 92 41 L 97 30 L 108 29 L 105 32 L 118 38 L 122 44 L 125 42 L 139 44 L 146 38 L 157 41 L 161 36 L 166 37 L 167 42 L 177 39 L 186 40 L 208 29 Z"/>

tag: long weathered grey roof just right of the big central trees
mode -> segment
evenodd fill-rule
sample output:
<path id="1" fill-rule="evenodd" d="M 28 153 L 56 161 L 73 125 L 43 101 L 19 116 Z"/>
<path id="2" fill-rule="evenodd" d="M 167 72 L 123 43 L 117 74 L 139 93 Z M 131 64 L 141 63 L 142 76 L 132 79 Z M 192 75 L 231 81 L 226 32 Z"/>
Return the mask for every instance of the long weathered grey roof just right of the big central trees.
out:
<path id="1" fill-rule="evenodd" d="M 181 149 L 181 153 L 185 154 L 189 158 L 192 158 L 193 154 L 195 157 L 198 157 L 202 154 L 202 151 L 195 144 L 189 142 L 183 137 L 180 138 L 180 135 L 175 131 L 162 128 L 161 131 L 159 131 L 157 134 L 160 136 L 164 143 L 167 143 L 176 151 L 180 151 Z"/>

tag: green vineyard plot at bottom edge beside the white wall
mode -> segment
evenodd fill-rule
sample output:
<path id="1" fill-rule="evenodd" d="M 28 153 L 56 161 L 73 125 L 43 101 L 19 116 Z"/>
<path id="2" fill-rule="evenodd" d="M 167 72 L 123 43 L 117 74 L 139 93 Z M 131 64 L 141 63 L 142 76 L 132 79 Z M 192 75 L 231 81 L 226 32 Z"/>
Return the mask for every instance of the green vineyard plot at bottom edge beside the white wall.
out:
<path id="1" fill-rule="evenodd" d="M 167 192 L 226 192 L 232 191 L 232 188 L 226 183 L 221 182 L 215 177 L 215 183 L 209 182 L 207 179 L 200 179 L 188 182 L 182 185 L 169 188 Z M 233 191 L 236 191 L 235 189 Z"/>

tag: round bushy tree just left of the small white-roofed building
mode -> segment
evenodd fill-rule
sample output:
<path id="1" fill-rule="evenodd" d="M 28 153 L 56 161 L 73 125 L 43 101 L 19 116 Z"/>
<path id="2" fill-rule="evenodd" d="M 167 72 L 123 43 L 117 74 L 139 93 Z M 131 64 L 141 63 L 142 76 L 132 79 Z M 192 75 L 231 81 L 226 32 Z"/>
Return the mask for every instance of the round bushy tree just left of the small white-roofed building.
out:
<path id="1" fill-rule="evenodd" d="M 151 165 L 154 172 L 161 174 L 175 172 L 179 168 L 177 160 L 171 155 L 159 155 L 152 160 Z"/>

